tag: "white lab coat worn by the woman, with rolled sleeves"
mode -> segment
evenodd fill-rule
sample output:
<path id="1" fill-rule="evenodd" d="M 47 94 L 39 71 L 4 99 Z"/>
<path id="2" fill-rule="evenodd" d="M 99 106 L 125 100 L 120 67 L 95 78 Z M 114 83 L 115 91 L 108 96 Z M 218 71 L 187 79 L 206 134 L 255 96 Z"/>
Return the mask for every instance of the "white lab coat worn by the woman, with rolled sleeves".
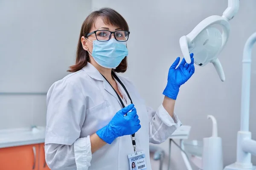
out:
<path id="1" fill-rule="evenodd" d="M 181 123 L 160 105 L 146 107 L 134 85 L 118 76 L 137 109 L 140 130 L 135 134 L 137 151 L 144 151 L 151 170 L 149 142 L 164 142 Z M 117 82 L 117 81 L 116 81 Z M 128 99 L 122 86 L 119 91 Z M 134 153 L 131 136 L 122 136 L 91 153 L 90 135 L 107 125 L 122 105 L 111 85 L 90 63 L 76 73 L 55 82 L 47 93 L 45 155 L 52 170 L 129 170 L 128 154 Z"/>

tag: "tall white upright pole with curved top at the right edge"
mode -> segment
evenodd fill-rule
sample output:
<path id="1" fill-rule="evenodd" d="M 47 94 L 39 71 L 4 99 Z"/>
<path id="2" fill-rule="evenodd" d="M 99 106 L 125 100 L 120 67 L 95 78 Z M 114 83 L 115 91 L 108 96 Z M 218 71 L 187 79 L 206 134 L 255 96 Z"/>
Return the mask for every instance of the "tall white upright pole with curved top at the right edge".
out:
<path id="1" fill-rule="evenodd" d="M 250 115 L 250 72 L 251 52 L 256 42 L 256 32 L 252 34 L 244 45 L 242 89 L 241 89 L 241 123 L 240 131 L 237 133 L 236 162 L 228 165 L 224 170 L 256 170 L 251 163 L 251 154 L 256 156 L 256 141 L 252 140 L 249 131 Z"/>

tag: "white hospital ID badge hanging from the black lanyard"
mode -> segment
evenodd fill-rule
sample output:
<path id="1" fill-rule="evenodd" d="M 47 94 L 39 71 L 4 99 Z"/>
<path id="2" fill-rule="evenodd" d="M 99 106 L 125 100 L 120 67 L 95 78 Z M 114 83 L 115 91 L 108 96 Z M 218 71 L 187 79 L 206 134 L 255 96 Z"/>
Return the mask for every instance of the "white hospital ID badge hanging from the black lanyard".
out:
<path id="1" fill-rule="evenodd" d="M 129 154 L 128 155 L 130 170 L 146 170 L 146 158 L 145 153 L 143 151 L 137 152 L 137 154 Z"/>

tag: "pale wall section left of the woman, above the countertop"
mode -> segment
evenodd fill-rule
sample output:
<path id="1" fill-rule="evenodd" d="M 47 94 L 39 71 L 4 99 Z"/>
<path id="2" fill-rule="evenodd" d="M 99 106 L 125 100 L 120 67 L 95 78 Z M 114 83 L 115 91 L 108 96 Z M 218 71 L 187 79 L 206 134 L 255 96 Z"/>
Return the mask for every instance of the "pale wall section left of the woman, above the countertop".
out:
<path id="1" fill-rule="evenodd" d="M 1 0 L 0 92 L 47 92 L 68 74 L 90 8 L 90 0 Z M 45 95 L 0 95 L 0 129 L 45 121 Z"/>

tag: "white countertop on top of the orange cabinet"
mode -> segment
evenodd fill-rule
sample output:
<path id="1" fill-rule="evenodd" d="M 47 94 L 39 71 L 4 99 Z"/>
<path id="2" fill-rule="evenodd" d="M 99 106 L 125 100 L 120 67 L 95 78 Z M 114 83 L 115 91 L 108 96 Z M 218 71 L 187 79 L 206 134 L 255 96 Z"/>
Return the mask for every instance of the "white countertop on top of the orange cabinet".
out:
<path id="1" fill-rule="evenodd" d="M 0 148 L 44 143 L 45 127 L 0 130 Z"/>

